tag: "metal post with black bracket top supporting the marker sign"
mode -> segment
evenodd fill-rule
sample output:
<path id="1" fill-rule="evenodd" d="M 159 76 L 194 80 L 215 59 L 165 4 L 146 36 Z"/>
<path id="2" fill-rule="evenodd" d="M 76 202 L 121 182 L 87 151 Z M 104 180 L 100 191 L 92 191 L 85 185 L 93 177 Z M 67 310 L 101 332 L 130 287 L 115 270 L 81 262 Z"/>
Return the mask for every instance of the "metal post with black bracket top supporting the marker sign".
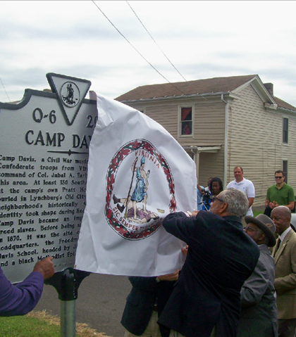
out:
<path id="1" fill-rule="evenodd" d="M 78 298 L 78 288 L 82 280 L 90 275 L 89 272 L 82 272 L 73 268 L 56 272 L 51 279 L 46 281 L 56 288 L 60 305 L 60 325 L 61 337 L 75 337 L 76 335 L 76 298 Z"/>

